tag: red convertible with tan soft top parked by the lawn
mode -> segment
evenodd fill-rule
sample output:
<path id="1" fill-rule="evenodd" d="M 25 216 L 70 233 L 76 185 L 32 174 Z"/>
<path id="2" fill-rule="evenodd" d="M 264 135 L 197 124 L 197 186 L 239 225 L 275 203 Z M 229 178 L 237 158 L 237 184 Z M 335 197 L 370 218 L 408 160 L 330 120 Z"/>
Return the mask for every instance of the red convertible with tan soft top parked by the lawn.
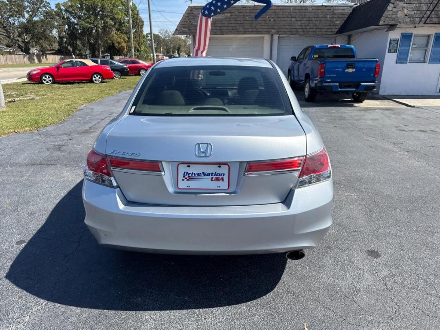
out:
<path id="1" fill-rule="evenodd" d="M 109 66 L 95 64 L 89 59 L 68 59 L 52 66 L 33 69 L 26 78 L 46 85 L 61 81 L 91 81 L 97 84 L 104 79 L 113 79 L 113 71 Z"/>

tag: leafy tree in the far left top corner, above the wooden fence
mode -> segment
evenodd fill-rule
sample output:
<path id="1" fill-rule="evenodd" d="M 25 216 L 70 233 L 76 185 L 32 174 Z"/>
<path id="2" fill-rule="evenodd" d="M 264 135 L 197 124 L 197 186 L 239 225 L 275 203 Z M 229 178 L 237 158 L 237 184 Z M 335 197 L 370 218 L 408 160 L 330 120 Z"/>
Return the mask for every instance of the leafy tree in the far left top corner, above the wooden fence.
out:
<path id="1" fill-rule="evenodd" d="M 46 0 L 0 0 L 0 28 L 10 46 L 44 53 L 56 42 L 54 12 Z"/>

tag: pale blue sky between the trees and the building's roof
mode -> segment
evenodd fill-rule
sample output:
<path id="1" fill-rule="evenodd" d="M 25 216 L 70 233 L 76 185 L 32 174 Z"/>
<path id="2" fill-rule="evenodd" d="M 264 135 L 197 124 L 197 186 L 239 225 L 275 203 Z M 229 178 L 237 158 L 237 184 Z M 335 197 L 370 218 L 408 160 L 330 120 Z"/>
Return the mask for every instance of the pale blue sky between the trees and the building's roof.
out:
<path id="1" fill-rule="evenodd" d="M 57 2 L 63 2 L 63 0 L 48 1 L 52 7 L 54 7 Z M 132 1 L 139 7 L 139 12 L 144 21 L 144 33 L 150 32 L 147 0 Z M 158 33 L 160 29 L 169 29 L 171 32 L 174 32 L 180 18 L 182 18 L 183 13 L 190 4 L 189 0 L 150 0 L 150 2 L 154 33 Z M 323 2 L 323 0 L 318 0 L 317 2 Z M 193 0 L 192 4 L 206 4 L 206 0 Z"/>

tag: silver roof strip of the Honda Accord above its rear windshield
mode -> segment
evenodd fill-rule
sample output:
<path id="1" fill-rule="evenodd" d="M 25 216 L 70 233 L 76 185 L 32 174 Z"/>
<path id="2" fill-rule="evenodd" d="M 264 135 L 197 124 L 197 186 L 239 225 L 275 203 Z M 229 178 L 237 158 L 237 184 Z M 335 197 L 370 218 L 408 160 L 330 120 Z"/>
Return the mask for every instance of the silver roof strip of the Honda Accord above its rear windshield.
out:
<path id="1" fill-rule="evenodd" d="M 156 67 L 167 66 L 208 66 L 208 65 L 233 65 L 233 66 L 260 66 L 271 68 L 271 63 L 266 59 L 252 59 L 245 57 L 175 57 L 159 61 Z"/>

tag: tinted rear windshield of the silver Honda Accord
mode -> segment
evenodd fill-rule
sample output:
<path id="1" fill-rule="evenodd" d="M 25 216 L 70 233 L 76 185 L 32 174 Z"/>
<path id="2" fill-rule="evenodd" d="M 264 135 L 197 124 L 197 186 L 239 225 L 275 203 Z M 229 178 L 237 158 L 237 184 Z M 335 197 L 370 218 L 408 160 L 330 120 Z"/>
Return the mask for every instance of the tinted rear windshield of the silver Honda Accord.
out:
<path id="1" fill-rule="evenodd" d="M 133 102 L 141 116 L 291 115 L 286 90 L 273 68 L 173 66 L 151 70 Z"/>

